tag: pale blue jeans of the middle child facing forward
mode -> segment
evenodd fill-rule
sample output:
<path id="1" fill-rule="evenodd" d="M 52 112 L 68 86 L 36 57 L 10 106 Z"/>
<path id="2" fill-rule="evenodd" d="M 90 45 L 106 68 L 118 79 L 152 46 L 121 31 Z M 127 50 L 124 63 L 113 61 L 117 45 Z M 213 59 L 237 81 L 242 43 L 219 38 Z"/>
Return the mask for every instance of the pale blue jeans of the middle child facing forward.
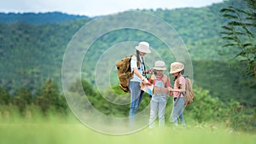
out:
<path id="1" fill-rule="evenodd" d="M 166 113 L 166 95 L 156 94 L 152 96 L 150 101 L 150 117 L 149 128 L 154 128 L 155 119 L 159 118 L 159 127 L 165 125 L 165 113 Z"/>

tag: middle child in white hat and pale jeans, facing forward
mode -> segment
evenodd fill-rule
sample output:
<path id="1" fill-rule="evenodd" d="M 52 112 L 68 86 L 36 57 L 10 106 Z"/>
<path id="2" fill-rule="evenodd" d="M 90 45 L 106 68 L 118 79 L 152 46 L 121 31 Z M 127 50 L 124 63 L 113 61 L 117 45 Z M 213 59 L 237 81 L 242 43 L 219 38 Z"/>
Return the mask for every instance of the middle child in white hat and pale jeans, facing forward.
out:
<path id="1" fill-rule="evenodd" d="M 157 118 L 157 114 L 159 126 L 162 127 L 165 125 L 166 96 L 169 94 L 168 89 L 171 88 L 169 78 L 163 74 L 165 70 L 166 64 L 164 61 L 155 61 L 155 73 L 149 78 L 149 82 L 154 84 L 154 91 L 150 101 L 149 128 L 154 128 L 154 120 Z"/>

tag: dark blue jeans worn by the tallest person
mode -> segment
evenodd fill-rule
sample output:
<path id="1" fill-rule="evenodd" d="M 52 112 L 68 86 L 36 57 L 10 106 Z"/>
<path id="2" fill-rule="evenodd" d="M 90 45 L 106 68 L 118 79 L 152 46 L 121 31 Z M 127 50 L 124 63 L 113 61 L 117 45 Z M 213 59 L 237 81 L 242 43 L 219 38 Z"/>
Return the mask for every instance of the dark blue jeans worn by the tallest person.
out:
<path id="1" fill-rule="evenodd" d="M 135 116 L 137 113 L 137 109 L 139 108 L 143 100 L 143 90 L 141 90 L 141 86 L 139 82 L 132 82 L 132 81 L 129 84 L 129 89 L 131 91 L 129 124 L 132 126 L 135 123 Z"/>

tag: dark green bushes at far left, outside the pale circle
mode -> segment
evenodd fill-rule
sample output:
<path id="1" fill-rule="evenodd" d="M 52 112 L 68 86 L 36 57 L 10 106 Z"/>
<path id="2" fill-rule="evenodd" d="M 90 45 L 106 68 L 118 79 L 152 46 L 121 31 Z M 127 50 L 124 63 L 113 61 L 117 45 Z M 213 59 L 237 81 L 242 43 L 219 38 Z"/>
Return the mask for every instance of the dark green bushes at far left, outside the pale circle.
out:
<path id="1" fill-rule="evenodd" d="M 64 114 L 68 110 L 64 95 L 61 95 L 57 84 L 50 78 L 35 94 L 32 94 L 30 89 L 22 87 L 10 95 L 8 89 L 0 87 L 0 102 L 3 117 L 6 112 L 13 112 L 14 107 L 23 116 L 34 111 L 33 109 L 44 114 L 52 110 Z"/>

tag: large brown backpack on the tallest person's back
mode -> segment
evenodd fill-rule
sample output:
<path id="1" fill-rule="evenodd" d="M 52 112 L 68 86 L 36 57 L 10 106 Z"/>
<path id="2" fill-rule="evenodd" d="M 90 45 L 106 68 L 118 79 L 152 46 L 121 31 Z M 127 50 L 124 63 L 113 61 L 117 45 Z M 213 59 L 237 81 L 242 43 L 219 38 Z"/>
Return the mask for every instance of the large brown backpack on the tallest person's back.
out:
<path id="1" fill-rule="evenodd" d="M 119 88 L 125 93 L 129 92 L 129 82 L 133 76 L 131 72 L 131 56 L 125 56 L 122 60 L 119 60 L 116 64 L 119 77 Z M 137 66 L 139 67 L 140 61 L 137 60 Z"/>

